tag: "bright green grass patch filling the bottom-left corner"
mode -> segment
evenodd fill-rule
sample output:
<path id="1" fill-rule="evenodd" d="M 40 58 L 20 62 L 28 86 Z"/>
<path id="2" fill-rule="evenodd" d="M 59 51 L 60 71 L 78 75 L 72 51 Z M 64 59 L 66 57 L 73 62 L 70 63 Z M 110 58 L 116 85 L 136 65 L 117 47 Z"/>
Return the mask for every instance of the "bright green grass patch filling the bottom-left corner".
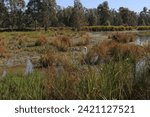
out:
<path id="1" fill-rule="evenodd" d="M 28 76 L 9 74 L 0 81 L 0 99 L 44 99 L 44 77 L 38 72 Z"/>

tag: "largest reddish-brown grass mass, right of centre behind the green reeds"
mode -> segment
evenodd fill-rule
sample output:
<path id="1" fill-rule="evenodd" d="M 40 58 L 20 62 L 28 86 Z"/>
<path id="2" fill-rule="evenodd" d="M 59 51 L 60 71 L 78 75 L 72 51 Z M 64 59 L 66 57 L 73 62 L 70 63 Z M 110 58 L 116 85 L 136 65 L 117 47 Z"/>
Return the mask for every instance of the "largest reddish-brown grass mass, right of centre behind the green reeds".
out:
<path id="1" fill-rule="evenodd" d="M 95 45 L 87 54 L 87 58 L 91 58 L 94 54 L 99 55 L 101 60 L 119 60 L 132 58 L 137 60 L 143 58 L 146 55 L 144 47 L 134 44 L 118 43 L 116 41 L 103 41 Z"/>

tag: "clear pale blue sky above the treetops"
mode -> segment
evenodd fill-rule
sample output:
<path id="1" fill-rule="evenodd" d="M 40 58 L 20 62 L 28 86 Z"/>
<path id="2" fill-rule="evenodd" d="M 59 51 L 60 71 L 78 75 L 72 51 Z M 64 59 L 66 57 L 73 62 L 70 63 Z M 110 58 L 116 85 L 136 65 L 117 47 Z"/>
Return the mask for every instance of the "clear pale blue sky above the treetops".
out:
<path id="1" fill-rule="evenodd" d="M 25 0 L 28 2 L 29 0 Z M 57 4 L 63 7 L 73 6 L 74 0 L 56 0 Z M 80 0 L 86 8 L 97 8 L 99 4 L 106 0 Z M 143 7 L 150 9 L 150 0 L 107 0 L 110 8 L 128 7 L 130 10 L 140 12 Z"/>

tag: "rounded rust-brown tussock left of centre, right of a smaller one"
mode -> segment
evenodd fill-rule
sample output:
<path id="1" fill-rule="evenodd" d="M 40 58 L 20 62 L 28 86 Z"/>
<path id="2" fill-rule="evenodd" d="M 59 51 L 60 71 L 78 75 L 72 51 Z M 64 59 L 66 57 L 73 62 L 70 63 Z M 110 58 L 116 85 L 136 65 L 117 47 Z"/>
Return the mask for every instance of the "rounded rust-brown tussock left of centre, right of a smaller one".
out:
<path id="1" fill-rule="evenodd" d="M 72 45 L 70 38 L 64 35 L 55 37 L 51 44 L 57 47 L 59 51 L 67 51 L 68 47 Z"/>

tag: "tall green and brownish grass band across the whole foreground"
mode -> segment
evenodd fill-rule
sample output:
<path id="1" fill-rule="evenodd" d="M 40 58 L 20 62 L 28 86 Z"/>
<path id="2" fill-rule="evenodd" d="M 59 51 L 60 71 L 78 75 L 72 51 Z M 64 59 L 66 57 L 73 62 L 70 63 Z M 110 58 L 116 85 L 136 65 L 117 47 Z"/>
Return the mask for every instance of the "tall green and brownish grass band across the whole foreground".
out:
<path id="1" fill-rule="evenodd" d="M 150 99 L 150 74 L 136 78 L 130 60 L 85 65 L 60 75 L 52 71 L 9 74 L 0 81 L 0 99 Z"/>

